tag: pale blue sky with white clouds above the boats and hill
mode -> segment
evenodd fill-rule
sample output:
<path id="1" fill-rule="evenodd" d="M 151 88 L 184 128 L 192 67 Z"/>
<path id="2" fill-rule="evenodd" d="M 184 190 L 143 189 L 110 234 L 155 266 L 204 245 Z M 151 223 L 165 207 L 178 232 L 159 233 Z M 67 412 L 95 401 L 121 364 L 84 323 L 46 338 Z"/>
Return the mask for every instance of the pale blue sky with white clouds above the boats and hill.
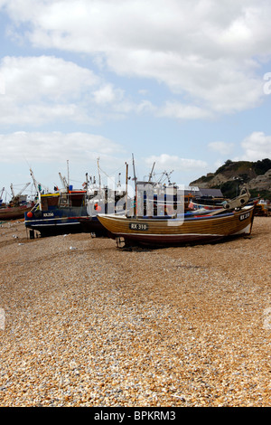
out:
<path id="1" fill-rule="evenodd" d="M 266 0 L 0 0 L 0 191 L 271 158 Z M 269 74 L 270 72 L 270 74 Z M 30 188 L 31 186 L 29 186 Z"/>

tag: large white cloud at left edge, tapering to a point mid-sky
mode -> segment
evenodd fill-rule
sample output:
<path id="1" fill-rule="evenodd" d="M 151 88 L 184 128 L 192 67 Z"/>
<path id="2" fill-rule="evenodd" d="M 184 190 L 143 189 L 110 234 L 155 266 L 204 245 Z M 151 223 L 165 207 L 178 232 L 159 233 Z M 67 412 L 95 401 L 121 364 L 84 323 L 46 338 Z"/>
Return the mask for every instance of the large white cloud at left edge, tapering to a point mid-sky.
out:
<path id="1" fill-rule="evenodd" d="M 10 57 L 0 63 L 5 91 L 0 97 L 0 124 L 33 125 L 69 120 L 100 124 L 123 118 L 140 105 L 127 102 L 125 91 L 93 71 L 53 56 Z"/>

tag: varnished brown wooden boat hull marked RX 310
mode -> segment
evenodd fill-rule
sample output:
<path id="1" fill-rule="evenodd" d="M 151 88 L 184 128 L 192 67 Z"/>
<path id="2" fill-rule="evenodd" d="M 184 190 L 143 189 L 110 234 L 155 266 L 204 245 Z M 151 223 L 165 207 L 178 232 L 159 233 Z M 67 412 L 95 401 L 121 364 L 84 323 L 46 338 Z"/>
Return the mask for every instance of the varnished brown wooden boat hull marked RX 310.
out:
<path id="1" fill-rule="evenodd" d="M 213 242 L 249 235 L 252 230 L 254 206 L 238 210 L 220 210 L 213 215 L 179 214 L 176 217 L 127 217 L 98 214 L 108 236 L 126 245 L 175 246 L 191 242 Z"/>

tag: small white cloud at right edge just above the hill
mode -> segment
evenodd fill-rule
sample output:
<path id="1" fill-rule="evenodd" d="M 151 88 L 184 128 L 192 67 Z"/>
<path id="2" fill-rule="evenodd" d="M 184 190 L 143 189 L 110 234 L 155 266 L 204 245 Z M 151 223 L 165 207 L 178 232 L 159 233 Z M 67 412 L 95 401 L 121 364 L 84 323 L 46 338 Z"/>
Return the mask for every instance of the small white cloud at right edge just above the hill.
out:
<path id="1" fill-rule="evenodd" d="M 266 136 L 262 131 L 254 131 L 241 143 L 244 155 L 239 159 L 257 161 L 271 158 L 271 136 Z"/>

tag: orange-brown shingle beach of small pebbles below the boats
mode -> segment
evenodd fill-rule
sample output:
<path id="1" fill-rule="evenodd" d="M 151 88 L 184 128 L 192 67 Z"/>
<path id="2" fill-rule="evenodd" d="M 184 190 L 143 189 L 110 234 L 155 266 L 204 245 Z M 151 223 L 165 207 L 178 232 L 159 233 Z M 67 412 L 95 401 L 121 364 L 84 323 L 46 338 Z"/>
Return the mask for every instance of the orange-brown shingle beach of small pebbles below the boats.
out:
<path id="1" fill-rule="evenodd" d="M 270 406 L 270 242 L 270 217 L 160 250 L 2 223 L 0 406 Z"/>

